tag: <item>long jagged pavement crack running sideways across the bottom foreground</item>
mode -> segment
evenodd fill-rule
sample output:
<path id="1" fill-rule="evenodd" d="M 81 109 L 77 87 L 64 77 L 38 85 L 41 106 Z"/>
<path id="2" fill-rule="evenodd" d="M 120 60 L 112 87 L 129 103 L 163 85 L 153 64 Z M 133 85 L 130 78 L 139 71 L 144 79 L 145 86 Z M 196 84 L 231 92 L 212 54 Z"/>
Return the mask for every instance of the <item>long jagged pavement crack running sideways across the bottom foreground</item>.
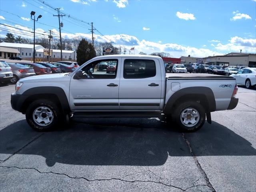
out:
<path id="1" fill-rule="evenodd" d="M 120 181 L 123 181 L 123 182 L 130 182 L 130 183 L 135 183 L 135 182 L 152 182 L 152 183 L 156 183 L 156 184 L 162 184 L 162 185 L 165 185 L 165 186 L 168 186 L 168 187 L 173 187 L 173 188 L 176 188 L 176 189 L 180 189 L 182 191 L 186 191 L 187 189 L 189 188 L 192 188 L 192 187 L 196 187 L 196 186 L 208 186 L 208 185 L 194 185 L 196 182 L 193 183 L 193 186 L 192 187 L 188 187 L 186 189 L 182 189 L 180 187 L 177 187 L 177 186 L 173 186 L 173 185 L 168 185 L 168 184 L 164 184 L 162 182 L 156 182 L 156 181 L 150 181 L 150 180 L 146 180 L 146 181 L 143 181 L 143 180 L 134 180 L 134 181 L 129 181 L 129 180 L 124 180 L 122 178 L 126 177 L 122 177 L 122 178 L 110 178 L 110 179 L 93 179 L 93 180 L 90 180 L 88 178 L 85 178 L 85 177 L 72 177 L 72 176 L 69 176 L 68 174 L 64 174 L 64 173 L 56 173 L 56 172 L 41 172 L 39 171 L 38 169 L 36 168 L 20 168 L 20 167 L 17 167 L 17 166 L 0 166 L 2 168 L 18 168 L 18 169 L 28 169 L 28 170 L 35 170 L 37 172 L 39 172 L 40 174 L 57 174 L 57 175 L 63 175 L 63 176 L 67 176 L 68 178 L 71 178 L 71 179 L 84 179 L 88 182 L 94 182 L 94 181 L 110 181 L 110 180 L 120 180 Z M 138 172 L 140 173 L 140 172 Z M 136 174 L 136 173 L 135 173 Z M 131 175 L 131 174 L 129 174 Z M 128 175 L 127 175 L 128 176 Z M 199 179 L 198 179 L 199 180 Z"/>

